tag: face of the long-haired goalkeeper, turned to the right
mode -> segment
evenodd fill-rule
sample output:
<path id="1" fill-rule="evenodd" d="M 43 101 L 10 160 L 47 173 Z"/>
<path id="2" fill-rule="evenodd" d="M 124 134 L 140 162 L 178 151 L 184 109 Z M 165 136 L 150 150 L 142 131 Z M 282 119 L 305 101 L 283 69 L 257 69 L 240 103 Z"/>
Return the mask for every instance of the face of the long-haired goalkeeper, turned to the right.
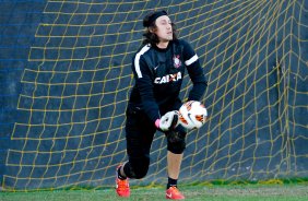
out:
<path id="1" fill-rule="evenodd" d="M 173 40 L 173 24 L 167 15 L 163 15 L 156 19 L 156 32 L 155 34 L 159 38 L 159 42 Z"/>

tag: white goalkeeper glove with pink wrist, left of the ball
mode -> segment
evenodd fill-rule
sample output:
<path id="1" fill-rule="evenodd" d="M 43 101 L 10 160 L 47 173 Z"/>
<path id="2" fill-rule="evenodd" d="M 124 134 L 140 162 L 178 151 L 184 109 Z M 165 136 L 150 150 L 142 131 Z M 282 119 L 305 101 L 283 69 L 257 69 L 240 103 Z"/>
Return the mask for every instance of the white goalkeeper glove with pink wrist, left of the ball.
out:
<path id="1" fill-rule="evenodd" d="M 155 127 L 161 131 L 169 131 L 178 122 L 178 113 L 176 110 L 166 113 L 161 119 L 156 119 Z"/>

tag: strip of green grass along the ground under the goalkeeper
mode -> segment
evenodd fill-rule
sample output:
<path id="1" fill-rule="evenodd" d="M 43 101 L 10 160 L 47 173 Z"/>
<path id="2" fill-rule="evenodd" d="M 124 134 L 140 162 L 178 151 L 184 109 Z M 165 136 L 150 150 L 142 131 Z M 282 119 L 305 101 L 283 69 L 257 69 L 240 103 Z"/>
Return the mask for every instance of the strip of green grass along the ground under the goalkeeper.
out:
<path id="1" fill-rule="evenodd" d="M 205 201 L 307 201 L 308 185 L 189 186 L 181 191 L 186 200 Z M 163 187 L 132 189 L 129 199 L 118 198 L 114 189 L 0 192 L 1 201 L 162 201 Z"/>

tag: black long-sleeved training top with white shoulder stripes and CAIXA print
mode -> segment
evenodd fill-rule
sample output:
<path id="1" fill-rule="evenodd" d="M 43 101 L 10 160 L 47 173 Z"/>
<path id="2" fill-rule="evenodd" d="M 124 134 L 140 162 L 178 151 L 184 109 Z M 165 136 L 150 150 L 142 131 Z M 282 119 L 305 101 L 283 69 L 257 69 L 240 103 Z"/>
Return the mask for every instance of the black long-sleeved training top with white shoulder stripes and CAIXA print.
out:
<path id="1" fill-rule="evenodd" d="M 132 60 L 135 84 L 129 104 L 142 108 L 154 123 L 179 99 L 185 69 L 193 83 L 188 100 L 200 100 L 208 84 L 198 56 L 186 40 L 171 40 L 165 49 L 142 46 Z"/>

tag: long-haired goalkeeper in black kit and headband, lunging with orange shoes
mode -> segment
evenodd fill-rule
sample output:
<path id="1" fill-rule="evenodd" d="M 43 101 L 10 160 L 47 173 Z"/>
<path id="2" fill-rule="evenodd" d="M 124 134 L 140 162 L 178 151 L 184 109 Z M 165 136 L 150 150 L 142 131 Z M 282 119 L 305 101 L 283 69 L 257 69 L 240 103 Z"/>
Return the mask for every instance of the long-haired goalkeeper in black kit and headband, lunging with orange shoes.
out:
<path id="1" fill-rule="evenodd" d="M 188 100 L 200 100 L 206 80 L 198 56 L 186 40 L 178 39 L 175 24 L 166 11 L 149 13 L 143 19 L 145 33 L 141 48 L 132 60 L 135 84 L 127 107 L 126 140 L 128 162 L 117 168 L 116 191 L 129 197 L 128 178 L 145 177 L 150 166 L 150 149 L 156 130 L 167 139 L 167 199 L 185 199 L 177 180 L 186 149 L 186 130 L 175 127 L 176 110 L 185 71 L 193 87 Z"/>

